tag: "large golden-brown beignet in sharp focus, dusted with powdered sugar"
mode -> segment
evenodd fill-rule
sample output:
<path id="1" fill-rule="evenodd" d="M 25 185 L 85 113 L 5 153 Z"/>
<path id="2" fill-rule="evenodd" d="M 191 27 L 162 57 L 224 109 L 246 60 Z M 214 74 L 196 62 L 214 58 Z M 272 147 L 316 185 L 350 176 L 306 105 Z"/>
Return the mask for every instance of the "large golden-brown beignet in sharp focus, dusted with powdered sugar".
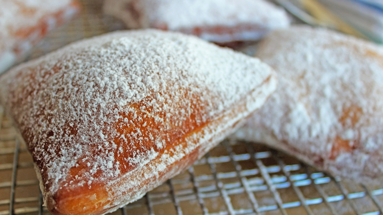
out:
<path id="1" fill-rule="evenodd" d="M 158 30 L 83 40 L 0 78 L 55 215 L 99 215 L 141 198 L 275 88 L 258 59 Z"/>

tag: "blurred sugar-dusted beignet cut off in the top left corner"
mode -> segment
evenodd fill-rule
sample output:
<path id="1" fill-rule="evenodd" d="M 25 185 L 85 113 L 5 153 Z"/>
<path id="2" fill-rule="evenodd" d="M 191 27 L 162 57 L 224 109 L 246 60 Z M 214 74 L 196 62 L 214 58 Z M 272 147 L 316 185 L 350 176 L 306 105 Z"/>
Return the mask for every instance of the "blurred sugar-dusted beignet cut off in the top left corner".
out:
<path id="1" fill-rule="evenodd" d="M 0 73 L 79 8 L 77 0 L 0 0 Z"/>

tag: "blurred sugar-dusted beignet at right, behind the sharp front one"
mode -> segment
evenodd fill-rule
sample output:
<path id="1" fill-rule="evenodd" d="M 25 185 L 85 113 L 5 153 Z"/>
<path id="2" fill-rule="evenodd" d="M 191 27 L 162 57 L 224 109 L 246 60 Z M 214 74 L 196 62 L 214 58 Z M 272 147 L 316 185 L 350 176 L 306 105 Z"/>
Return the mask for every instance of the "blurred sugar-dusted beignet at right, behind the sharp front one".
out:
<path id="1" fill-rule="evenodd" d="M 331 30 L 271 33 L 256 54 L 279 85 L 235 136 L 282 149 L 334 176 L 382 182 L 383 48 Z"/>

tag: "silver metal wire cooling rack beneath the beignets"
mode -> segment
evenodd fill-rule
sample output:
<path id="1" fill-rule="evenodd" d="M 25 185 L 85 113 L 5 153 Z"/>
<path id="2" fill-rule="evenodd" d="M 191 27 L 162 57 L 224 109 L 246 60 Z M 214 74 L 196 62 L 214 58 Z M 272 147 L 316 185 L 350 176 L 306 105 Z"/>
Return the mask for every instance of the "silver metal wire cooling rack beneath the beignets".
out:
<path id="1" fill-rule="evenodd" d="M 71 23 L 30 58 L 78 39 L 122 29 L 83 0 Z M 113 215 L 379 215 L 383 184 L 341 181 L 262 144 L 225 140 L 190 169 Z M 0 107 L 0 215 L 47 215 L 25 144 Z"/>

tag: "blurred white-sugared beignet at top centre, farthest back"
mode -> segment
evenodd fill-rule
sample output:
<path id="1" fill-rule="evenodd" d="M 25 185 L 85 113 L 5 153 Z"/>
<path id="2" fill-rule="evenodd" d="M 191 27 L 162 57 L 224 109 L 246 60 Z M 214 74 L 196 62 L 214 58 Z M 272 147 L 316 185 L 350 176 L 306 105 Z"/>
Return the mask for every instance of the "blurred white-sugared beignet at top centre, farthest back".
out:
<path id="1" fill-rule="evenodd" d="M 266 0 L 105 0 L 104 11 L 128 28 L 159 28 L 227 43 L 257 40 L 290 24 L 287 13 Z"/>

